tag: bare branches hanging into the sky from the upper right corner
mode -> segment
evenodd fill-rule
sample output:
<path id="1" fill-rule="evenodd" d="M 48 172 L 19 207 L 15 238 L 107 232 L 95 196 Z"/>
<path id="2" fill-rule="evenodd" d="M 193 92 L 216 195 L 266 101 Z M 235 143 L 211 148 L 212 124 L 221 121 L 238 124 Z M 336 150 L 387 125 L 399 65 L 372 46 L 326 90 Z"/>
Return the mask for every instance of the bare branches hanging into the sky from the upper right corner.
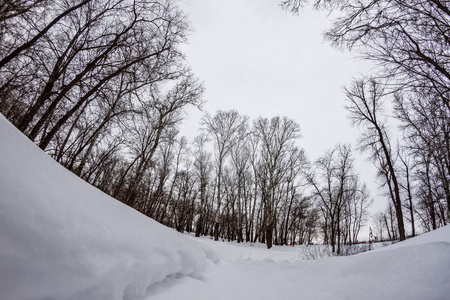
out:
<path id="1" fill-rule="evenodd" d="M 298 12 L 306 0 L 284 0 Z M 382 76 L 404 89 L 423 89 L 450 109 L 450 8 L 440 0 L 315 0 L 314 6 L 340 10 L 326 32 L 334 45 L 355 49 L 374 61 Z"/>

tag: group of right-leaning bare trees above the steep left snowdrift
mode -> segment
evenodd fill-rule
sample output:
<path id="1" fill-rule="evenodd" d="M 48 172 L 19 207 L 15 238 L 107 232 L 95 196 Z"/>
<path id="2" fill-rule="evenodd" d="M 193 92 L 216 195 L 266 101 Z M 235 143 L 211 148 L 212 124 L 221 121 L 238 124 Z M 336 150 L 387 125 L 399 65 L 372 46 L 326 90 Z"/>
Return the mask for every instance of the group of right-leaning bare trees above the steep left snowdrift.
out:
<path id="1" fill-rule="evenodd" d="M 1 113 L 66 168 L 133 205 L 183 109 L 203 103 L 179 50 L 184 14 L 170 0 L 13 0 L 0 13 Z"/>

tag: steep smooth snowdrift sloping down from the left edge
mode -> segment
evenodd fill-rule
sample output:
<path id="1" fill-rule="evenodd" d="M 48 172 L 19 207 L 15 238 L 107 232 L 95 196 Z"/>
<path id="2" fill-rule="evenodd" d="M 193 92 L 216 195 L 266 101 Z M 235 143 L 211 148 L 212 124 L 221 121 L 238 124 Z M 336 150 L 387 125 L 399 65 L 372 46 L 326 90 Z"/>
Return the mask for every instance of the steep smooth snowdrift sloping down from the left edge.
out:
<path id="1" fill-rule="evenodd" d="M 142 299 L 198 276 L 195 242 L 67 171 L 0 115 L 0 299 Z"/>

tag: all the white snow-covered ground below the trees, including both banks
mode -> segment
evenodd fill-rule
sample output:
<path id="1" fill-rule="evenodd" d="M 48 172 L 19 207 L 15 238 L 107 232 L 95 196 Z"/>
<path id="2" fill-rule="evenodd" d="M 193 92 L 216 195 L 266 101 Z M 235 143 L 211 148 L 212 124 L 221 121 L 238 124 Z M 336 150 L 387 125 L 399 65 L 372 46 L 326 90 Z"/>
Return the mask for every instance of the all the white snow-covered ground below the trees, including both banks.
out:
<path id="1" fill-rule="evenodd" d="M 0 299 L 450 299 L 450 227 L 350 257 L 166 228 L 0 115 Z"/>

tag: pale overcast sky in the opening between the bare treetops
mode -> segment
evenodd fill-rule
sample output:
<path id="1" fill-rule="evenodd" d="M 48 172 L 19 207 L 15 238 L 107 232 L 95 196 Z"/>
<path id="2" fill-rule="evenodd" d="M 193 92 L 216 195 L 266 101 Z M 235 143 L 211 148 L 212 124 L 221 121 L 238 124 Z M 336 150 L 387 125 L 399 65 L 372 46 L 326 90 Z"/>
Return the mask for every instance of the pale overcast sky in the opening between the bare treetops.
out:
<path id="1" fill-rule="evenodd" d="M 343 87 L 369 72 L 369 64 L 323 40 L 330 21 L 309 7 L 294 16 L 279 0 L 182 0 L 193 32 L 184 52 L 205 82 L 204 111 L 235 109 L 251 120 L 287 116 L 301 128 L 311 160 L 337 143 L 356 146 L 344 109 Z M 182 130 L 194 136 L 201 112 L 193 109 Z M 355 151 L 357 171 L 377 195 L 375 169 Z M 376 201 L 372 212 L 384 208 Z"/>

